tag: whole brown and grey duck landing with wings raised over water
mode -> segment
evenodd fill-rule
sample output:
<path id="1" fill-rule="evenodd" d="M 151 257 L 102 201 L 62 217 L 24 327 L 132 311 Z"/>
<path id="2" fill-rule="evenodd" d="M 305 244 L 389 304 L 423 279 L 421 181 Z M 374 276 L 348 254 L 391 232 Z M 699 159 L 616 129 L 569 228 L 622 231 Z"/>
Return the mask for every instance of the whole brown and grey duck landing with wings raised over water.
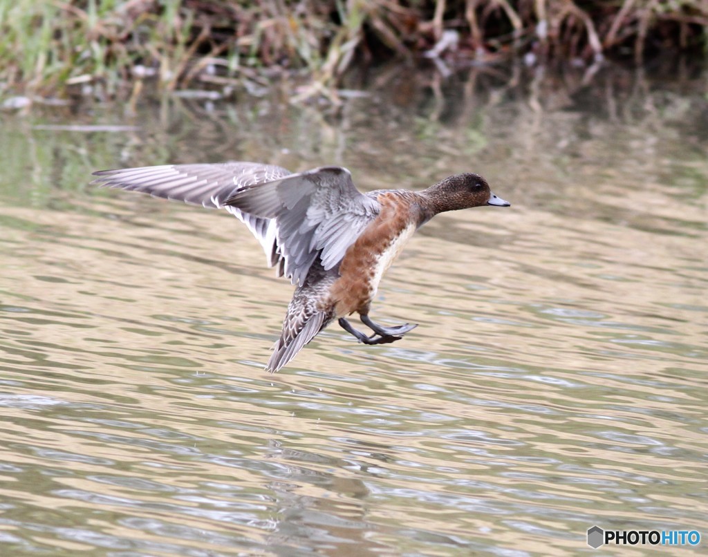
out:
<path id="1" fill-rule="evenodd" d="M 394 343 L 416 324 L 382 326 L 370 318 L 384 273 L 413 233 L 436 214 L 509 207 L 475 173 L 425 190 L 367 193 L 342 166 L 292 173 L 281 166 L 231 161 L 96 171 L 91 183 L 226 209 L 261 243 L 269 267 L 295 285 L 265 370 L 278 372 L 333 321 L 365 345 Z M 371 333 L 353 326 L 358 314 Z"/>

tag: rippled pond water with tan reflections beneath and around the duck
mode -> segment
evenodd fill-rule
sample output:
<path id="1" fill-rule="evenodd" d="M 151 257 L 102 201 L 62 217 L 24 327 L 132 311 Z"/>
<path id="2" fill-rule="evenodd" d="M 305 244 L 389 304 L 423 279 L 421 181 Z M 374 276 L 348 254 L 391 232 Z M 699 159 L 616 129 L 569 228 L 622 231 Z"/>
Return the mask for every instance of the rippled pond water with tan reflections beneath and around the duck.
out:
<path id="1" fill-rule="evenodd" d="M 521 83 L 383 75 L 329 117 L 169 101 L 5 122 L 0 543 L 561 555 L 593 524 L 707 536 L 704 78 Z M 139 131 L 47 127 L 77 118 Z M 375 305 L 420 323 L 404 340 L 333 327 L 268 376 L 291 289 L 248 231 L 86 186 L 224 159 L 343 163 L 368 189 L 471 170 L 513 207 L 409 244 Z"/>

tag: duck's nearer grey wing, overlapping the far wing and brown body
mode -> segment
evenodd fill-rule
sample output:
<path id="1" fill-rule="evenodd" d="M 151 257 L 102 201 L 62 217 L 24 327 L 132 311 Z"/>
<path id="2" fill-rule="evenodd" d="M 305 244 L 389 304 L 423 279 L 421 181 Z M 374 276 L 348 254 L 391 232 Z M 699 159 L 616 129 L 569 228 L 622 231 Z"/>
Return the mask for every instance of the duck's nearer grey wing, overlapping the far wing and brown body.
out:
<path id="1" fill-rule="evenodd" d="M 237 190 L 224 205 L 275 222 L 284 274 L 304 284 L 318 257 L 324 270 L 338 265 L 381 206 L 360 193 L 351 173 L 323 166 Z"/>

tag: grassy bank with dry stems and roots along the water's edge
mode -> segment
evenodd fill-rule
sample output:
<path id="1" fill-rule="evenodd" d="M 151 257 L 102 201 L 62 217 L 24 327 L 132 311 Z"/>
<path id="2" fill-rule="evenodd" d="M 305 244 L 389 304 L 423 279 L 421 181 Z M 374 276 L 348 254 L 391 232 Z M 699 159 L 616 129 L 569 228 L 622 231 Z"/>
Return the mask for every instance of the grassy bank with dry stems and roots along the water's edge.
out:
<path id="1" fill-rule="evenodd" d="M 418 57 L 445 31 L 455 59 L 641 63 L 704 54 L 707 29 L 707 0 L 0 0 L 0 95 L 257 88 L 297 70 L 307 95 L 355 62 Z"/>

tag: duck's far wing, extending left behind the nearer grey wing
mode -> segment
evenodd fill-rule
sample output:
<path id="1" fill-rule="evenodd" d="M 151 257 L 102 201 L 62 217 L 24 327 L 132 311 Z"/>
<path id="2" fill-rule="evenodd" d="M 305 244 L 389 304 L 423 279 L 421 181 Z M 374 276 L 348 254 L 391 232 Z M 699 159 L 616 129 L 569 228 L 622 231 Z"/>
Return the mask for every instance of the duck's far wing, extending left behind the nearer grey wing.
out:
<path id="1" fill-rule="evenodd" d="M 179 200 L 210 208 L 225 208 L 249 227 L 263 246 L 268 265 L 282 262 L 275 243 L 275 226 L 270 219 L 254 217 L 236 207 L 224 205 L 239 188 L 277 180 L 290 171 L 272 164 L 228 162 L 220 164 L 168 164 L 122 168 L 93 173 L 98 176 L 92 184 L 108 188 L 122 188 L 149 193 L 154 197 Z M 280 265 L 282 276 L 282 265 Z"/>

